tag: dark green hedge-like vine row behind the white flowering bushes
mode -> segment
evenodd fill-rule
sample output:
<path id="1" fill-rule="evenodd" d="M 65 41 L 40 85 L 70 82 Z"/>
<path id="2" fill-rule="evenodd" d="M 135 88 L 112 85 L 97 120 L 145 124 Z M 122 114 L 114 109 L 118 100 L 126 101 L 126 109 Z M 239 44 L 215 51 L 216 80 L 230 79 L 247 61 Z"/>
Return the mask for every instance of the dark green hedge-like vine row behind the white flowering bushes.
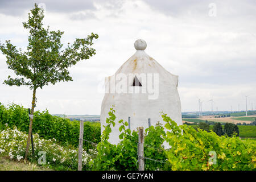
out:
<path id="1" fill-rule="evenodd" d="M 0 102 L 0 129 L 8 123 L 9 127 L 16 126 L 20 131 L 28 132 L 29 118 L 28 109 L 23 106 L 11 104 L 5 107 Z M 46 111 L 35 111 L 32 132 L 38 133 L 41 137 L 55 138 L 61 144 L 79 144 L 79 121 L 70 121 L 61 117 L 53 116 Z M 100 142 L 100 123 L 84 122 L 84 139 L 94 143 Z M 91 144 L 84 142 L 85 148 Z"/>

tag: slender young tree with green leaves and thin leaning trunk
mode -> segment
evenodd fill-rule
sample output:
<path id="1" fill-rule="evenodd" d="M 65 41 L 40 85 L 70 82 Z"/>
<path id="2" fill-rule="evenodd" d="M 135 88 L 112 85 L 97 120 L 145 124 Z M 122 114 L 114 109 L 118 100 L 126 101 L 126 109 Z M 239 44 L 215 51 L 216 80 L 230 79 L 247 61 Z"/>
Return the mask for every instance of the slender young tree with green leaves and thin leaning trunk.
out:
<path id="1" fill-rule="evenodd" d="M 36 89 L 43 88 L 44 85 L 56 84 L 59 81 L 72 81 L 68 68 L 77 62 L 89 59 L 95 54 L 93 39 L 97 39 L 97 34 L 88 35 L 85 39 L 76 39 L 67 48 L 61 49 L 60 39 L 64 32 L 49 31 L 43 27 L 43 9 L 35 4 L 35 8 L 28 13 L 27 22 L 23 22 L 23 27 L 29 30 L 27 51 L 22 52 L 16 49 L 10 40 L 6 44 L 0 44 L 0 50 L 6 55 L 6 63 L 9 69 L 13 69 L 18 76 L 9 76 L 3 84 L 10 86 L 30 86 L 33 90 L 31 115 L 34 114 Z M 30 136 L 32 132 L 33 117 L 30 117 L 28 129 L 27 148 L 25 160 L 27 160 L 28 149 L 30 147 Z"/>

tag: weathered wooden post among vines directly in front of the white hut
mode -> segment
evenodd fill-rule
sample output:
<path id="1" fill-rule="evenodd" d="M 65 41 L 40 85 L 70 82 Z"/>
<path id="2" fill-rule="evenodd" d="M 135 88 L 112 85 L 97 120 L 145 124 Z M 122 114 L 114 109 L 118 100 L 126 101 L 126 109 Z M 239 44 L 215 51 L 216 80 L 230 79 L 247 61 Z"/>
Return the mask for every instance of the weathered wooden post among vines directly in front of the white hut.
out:
<path id="1" fill-rule="evenodd" d="M 138 138 L 138 171 L 144 171 L 144 129 L 139 127 L 139 138 Z"/>

